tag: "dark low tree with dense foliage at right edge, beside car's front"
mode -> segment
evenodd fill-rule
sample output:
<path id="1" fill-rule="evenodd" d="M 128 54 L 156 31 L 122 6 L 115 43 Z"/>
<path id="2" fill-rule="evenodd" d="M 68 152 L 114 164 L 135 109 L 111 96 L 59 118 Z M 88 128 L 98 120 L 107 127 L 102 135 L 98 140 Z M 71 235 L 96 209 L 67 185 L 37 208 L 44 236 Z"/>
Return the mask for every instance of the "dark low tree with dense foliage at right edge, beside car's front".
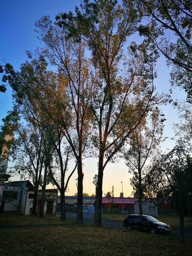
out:
<path id="1" fill-rule="evenodd" d="M 192 158 L 186 145 L 178 143 L 167 154 L 161 155 L 145 179 L 148 196 L 162 203 L 172 204 L 180 218 L 180 233 L 184 239 L 183 210 L 192 195 Z"/>

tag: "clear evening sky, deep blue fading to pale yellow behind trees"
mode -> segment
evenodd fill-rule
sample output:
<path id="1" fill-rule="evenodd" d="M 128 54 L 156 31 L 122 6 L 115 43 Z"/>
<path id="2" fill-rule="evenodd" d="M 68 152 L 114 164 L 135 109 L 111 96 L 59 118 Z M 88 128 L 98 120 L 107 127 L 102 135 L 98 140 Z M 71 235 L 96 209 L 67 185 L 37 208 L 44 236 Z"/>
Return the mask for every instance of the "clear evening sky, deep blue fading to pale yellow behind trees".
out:
<path id="1" fill-rule="evenodd" d="M 42 46 L 34 31 L 35 21 L 45 15 L 50 15 L 54 20 L 55 15 L 60 12 L 74 12 L 75 6 L 79 6 L 80 3 L 80 0 L 3 1 L 0 8 L 0 59 L 12 64 L 15 70 L 19 70 L 20 64 L 27 60 L 26 50 L 33 51 L 36 47 Z M 135 35 L 134 38 L 131 38 L 131 41 L 133 40 L 141 41 L 141 38 Z M 0 64 L 2 63 L 0 61 Z M 168 93 L 171 69 L 166 66 L 164 57 L 160 57 L 157 62 L 157 70 L 158 78 L 155 80 L 157 91 L 159 93 L 162 91 Z M 173 99 L 184 99 L 186 95 L 177 88 L 173 89 L 172 97 Z M 0 93 L 0 125 L 2 125 L 2 118 L 10 110 L 12 110 L 12 90 L 7 87 L 6 93 Z M 165 151 L 166 148 L 172 149 L 174 146 L 174 141 L 171 139 L 174 136 L 172 127 L 174 122 L 179 122 L 180 120 L 177 116 L 177 111 L 173 109 L 172 105 L 163 106 L 162 111 L 166 118 L 163 136 L 168 137 L 162 144 L 162 150 Z M 84 192 L 91 195 L 95 193 L 93 177 L 97 173 L 97 160 L 86 159 L 83 163 Z M 12 164 L 10 162 L 9 166 L 12 166 Z M 70 163 L 69 166 L 73 168 L 73 163 Z M 76 178 L 77 173 L 74 173 L 69 182 L 69 191 L 66 195 L 74 195 L 77 191 Z M 131 196 L 130 178 L 131 174 L 128 173 L 128 167 L 123 160 L 118 163 L 108 163 L 104 171 L 103 196 L 108 191 L 111 191 L 112 186 L 114 186 L 114 195 L 119 197 L 120 192 L 122 192 L 122 185 L 124 196 Z M 18 177 L 12 177 L 12 180 L 18 180 Z"/>

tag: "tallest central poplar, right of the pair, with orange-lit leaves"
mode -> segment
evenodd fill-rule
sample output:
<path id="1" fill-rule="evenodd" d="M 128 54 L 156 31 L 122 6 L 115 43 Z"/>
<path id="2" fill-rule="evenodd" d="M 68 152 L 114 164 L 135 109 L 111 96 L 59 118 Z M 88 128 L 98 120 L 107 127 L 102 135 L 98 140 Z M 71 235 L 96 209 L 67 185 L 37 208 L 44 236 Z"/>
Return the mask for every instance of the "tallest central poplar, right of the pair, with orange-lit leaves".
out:
<path id="1" fill-rule="evenodd" d="M 99 157 L 94 226 L 100 227 L 104 169 L 158 101 L 153 84 L 158 56 L 157 52 L 148 54 L 146 44 L 132 42 L 124 58 L 123 47 L 139 20 L 132 1 L 122 1 L 120 6 L 116 0 L 84 0 L 81 9 L 76 7 L 76 16 L 61 13 L 56 20 L 68 38 L 86 41 L 99 73 L 89 105 L 96 130 L 92 140 Z M 121 65 L 125 68 L 120 69 Z"/>

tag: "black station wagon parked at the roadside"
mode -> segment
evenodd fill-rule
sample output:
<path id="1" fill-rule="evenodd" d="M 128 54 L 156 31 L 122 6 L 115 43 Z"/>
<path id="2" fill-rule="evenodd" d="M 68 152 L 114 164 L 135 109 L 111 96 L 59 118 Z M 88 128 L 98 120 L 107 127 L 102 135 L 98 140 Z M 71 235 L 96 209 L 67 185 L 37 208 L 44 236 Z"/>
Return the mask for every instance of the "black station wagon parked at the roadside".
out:
<path id="1" fill-rule="evenodd" d="M 127 215 L 123 220 L 123 226 L 128 230 L 137 228 L 139 230 L 150 231 L 151 234 L 171 233 L 172 229 L 169 225 L 158 221 L 149 215 Z"/>

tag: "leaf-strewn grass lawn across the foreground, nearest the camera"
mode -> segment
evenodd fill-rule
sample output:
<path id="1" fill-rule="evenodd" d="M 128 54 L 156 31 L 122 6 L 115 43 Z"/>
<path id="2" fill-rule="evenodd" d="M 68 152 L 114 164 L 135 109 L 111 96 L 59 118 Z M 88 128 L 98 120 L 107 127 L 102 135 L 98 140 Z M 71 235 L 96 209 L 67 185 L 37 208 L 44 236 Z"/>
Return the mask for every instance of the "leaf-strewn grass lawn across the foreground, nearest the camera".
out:
<path id="1" fill-rule="evenodd" d="M 192 239 L 149 233 L 76 227 L 0 230 L 1 256 L 191 256 Z"/>

